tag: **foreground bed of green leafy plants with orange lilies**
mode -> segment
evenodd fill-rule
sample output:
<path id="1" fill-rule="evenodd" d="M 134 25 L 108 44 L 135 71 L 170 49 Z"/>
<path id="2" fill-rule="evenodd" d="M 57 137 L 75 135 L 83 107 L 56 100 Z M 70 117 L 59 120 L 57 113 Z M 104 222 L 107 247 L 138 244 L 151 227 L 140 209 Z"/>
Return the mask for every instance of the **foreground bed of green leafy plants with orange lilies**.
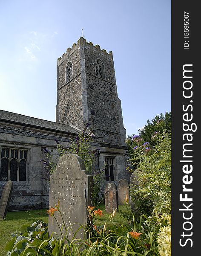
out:
<path id="1" fill-rule="evenodd" d="M 103 215 L 102 211 L 95 207 L 87 209 L 91 219 L 91 227 L 85 227 L 87 239 L 74 238 L 69 241 L 67 236 L 62 239 L 48 238 L 47 224 L 37 221 L 30 227 L 24 225 L 20 236 L 14 237 L 6 245 L 7 256 L 159 255 L 157 234 L 161 227 L 160 220 L 142 215 L 137 223 L 132 216 L 132 224 L 117 226 L 114 224 L 115 210 L 110 216 L 112 225 L 108 226 L 106 222 L 103 226 L 97 226 L 96 218 Z M 49 210 L 52 218 L 54 211 L 60 211 L 59 207 Z"/>

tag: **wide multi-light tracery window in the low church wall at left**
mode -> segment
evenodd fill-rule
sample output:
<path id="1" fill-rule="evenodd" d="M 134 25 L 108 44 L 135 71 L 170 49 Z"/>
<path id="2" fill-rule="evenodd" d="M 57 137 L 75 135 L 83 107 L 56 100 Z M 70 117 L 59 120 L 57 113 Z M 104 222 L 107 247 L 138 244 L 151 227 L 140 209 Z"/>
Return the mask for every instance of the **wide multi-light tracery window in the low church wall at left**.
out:
<path id="1" fill-rule="evenodd" d="M 28 150 L 1 148 L 0 180 L 26 180 Z"/>

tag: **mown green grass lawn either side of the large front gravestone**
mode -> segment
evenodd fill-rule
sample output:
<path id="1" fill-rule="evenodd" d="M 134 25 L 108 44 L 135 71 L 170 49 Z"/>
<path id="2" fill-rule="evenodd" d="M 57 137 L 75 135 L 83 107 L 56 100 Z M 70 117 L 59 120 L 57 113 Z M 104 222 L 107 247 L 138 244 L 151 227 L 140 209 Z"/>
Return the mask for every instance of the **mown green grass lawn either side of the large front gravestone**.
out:
<path id="1" fill-rule="evenodd" d="M 103 216 L 97 216 L 96 225 L 104 225 L 106 221 L 108 225 L 112 225 L 112 222 L 110 221 L 110 214 L 105 212 L 105 206 L 100 205 L 96 207 L 96 209 L 103 210 Z M 119 211 L 126 212 L 126 207 L 124 205 L 120 205 Z M 46 209 L 7 212 L 6 218 L 0 221 L 0 256 L 6 256 L 4 247 L 12 239 L 12 234 L 19 235 L 21 226 L 24 224 L 31 225 L 37 220 L 48 223 L 48 214 Z M 114 217 L 114 224 L 121 225 L 126 223 L 127 219 L 124 218 L 121 213 L 117 212 Z"/>

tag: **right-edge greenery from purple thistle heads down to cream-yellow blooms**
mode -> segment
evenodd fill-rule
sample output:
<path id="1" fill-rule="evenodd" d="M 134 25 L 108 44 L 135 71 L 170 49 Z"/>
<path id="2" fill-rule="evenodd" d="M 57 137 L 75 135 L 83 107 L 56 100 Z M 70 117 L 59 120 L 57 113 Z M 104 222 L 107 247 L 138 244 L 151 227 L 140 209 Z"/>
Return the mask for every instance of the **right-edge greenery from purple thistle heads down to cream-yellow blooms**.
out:
<path id="1" fill-rule="evenodd" d="M 148 227 L 154 227 L 154 221 L 160 224 L 155 242 L 159 254 L 168 256 L 171 255 L 171 131 L 164 129 L 164 119 L 158 119 L 156 125 L 162 133 L 155 131 L 152 135 L 154 148 L 140 135 L 127 138 L 130 163 L 137 168 L 132 170 L 137 181 L 131 186 L 130 194 L 135 205 L 133 214 L 139 218 L 141 210 L 148 215 L 152 211 L 149 218 L 153 223 Z"/>

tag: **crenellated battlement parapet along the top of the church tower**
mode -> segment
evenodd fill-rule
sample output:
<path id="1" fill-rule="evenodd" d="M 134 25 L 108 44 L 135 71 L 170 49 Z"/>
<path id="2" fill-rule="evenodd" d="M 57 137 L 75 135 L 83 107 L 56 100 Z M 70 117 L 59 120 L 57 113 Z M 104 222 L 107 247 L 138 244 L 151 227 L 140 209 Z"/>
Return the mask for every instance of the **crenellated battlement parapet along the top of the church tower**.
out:
<path id="1" fill-rule="evenodd" d="M 80 37 L 78 39 L 78 43 L 77 44 L 73 44 L 72 47 L 67 48 L 66 52 L 63 53 L 62 57 L 58 58 L 58 61 L 60 61 L 63 57 L 65 57 L 66 55 L 69 56 L 71 55 L 73 52 L 75 52 L 75 50 L 77 50 L 79 47 L 90 47 L 93 48 L 93 50 L 97 50 L 98 52 L 101 52 L 102 54 L 106 55 L 106 57 L 108 58 L 112 58 L 112 51 L 109 51 L 109 53 L 105 50 L 105 49 L 100 49 L 100 45 L 96 44 L 95 46 L 93 45 L 92 42 L 87 42 L 85 38 Z"/>

